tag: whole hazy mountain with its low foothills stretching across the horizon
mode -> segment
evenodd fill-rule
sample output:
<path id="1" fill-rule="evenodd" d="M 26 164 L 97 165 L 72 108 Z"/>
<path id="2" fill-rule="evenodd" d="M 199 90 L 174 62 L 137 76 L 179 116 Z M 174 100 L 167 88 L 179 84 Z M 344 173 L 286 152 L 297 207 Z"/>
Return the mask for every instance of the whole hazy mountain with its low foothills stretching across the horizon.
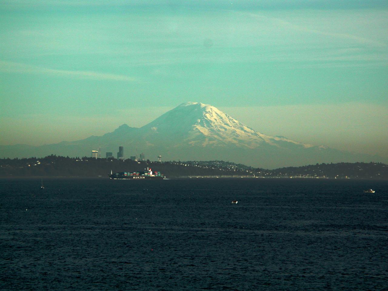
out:
<path id="1" fill-rule="evenodd" d="M 183 103 L 140 128 L 126 124 L 102 136 L 41 146 L 2 145 L 7 158 L 31 156 L 91 156 L 100 147 L 115 155 L 124 147 L 124 156 L 144 152 L 156 160 L 232 160 L 260 168 L 279 168 L 315 163 L 383 162 L 386 158 L 339 151 L 324 145 L 303 144 L 282 136 L 256 132 L 216 107 L 199 102 Z"/>

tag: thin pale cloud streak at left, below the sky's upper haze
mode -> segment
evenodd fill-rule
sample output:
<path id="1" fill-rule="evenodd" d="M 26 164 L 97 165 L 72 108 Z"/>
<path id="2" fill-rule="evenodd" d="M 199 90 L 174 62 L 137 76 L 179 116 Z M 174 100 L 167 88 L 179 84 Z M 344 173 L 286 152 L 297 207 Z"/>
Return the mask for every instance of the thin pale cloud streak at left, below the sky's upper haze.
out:
<path id="1" fill-rule="evenodd" d="M 29 64 L 17 62 L 0 61 L 0 71 L 5 73 L 28 73 L 28 74 L 50 74 L 54 76 L 67 76 L 69 78 L 94 79 L 94 80 L 113 80 L 113 81 L 137 81 L 135 78 L 120 75 L 99 73 L 93 71 L 69 71 L 43 68 Z"/>

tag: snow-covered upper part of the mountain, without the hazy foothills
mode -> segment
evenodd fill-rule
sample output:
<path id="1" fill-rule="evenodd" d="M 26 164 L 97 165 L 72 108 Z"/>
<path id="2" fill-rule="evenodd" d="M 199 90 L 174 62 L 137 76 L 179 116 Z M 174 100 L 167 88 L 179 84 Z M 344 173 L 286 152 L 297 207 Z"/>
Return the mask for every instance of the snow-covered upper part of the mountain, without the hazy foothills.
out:
<path id="1" fill-rule="evenodd" d="M 256 132 L 216 107 L 198 102 L 183 103 L 143 126 L 141 130 L 148 133 L 148 137 L 169 136 L 169 139 L 177 139 L 179 145 L 235 145 L 255 149 L 263 143 L 280 146 L 281 142 L 290 142 L 306 148 L 312 147 L 285 137 L 270 137 Z"/>

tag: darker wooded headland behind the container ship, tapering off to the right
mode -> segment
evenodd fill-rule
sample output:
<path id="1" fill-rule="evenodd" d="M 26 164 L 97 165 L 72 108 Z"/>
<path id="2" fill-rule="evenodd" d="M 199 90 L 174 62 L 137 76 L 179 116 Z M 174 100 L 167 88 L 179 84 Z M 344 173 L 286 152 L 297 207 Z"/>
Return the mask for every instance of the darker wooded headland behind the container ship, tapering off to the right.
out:
<path id="1" fill-rule="evenodd" d="M 187 165 L 183 162 L 140 162 L 131 159 L 69 158 L 51 155 L 45 158 L 0 159 L 0 177 L 108 177 L 111 170 L 114 173 L 143 171 L 147 167 L 160 171 L 166 177 L 252 175 L 242 170 Z"/>

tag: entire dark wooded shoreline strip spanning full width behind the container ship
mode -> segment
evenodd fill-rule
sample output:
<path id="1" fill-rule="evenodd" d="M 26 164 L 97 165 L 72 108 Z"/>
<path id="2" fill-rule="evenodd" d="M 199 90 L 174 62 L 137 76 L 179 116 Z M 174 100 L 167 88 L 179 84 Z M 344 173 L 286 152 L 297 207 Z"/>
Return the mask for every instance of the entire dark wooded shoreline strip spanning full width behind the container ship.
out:
<path id="1" fill-rule="evenodd" d="M 114 158 L 45 158 L 0 159 L 0 177 L 107 177 L 108 173 L 142 171 L 150 167 L 166 177 L 234 176 L 301 178 L 373 178 L 388 179 L 388 165 L 383 163 L 330 163 L 287 167 L 275 170 L 252 168 L 225 161 L 132 161 Z"/>

